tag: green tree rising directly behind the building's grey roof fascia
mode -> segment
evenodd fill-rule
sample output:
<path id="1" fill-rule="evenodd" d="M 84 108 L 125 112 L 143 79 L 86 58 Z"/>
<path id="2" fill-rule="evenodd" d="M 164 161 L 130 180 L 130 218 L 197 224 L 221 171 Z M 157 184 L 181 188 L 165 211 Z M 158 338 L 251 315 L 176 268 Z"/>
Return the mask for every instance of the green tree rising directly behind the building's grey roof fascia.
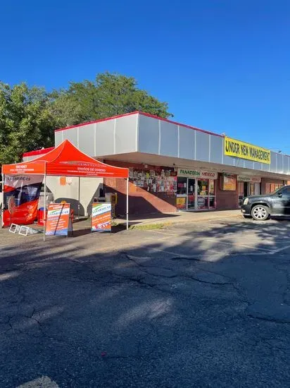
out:
<path id="1" fill-rule="evenodd" d="M 120 74 L 101 73 L 94 82 L 70 83 L 51 106 L 58 126 L 104 119 L 132 111 L 144 111 L 163 118 L 172 116 L 168 104 L 137 87 L 137 80 Z"/>

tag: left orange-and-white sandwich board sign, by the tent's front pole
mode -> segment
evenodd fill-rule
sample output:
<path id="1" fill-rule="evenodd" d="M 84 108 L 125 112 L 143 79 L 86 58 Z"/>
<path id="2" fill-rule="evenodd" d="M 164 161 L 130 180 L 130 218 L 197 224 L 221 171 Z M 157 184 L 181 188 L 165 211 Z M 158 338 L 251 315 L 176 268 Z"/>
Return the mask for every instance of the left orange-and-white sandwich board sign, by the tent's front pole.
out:
<path id="1" fill-rule="evenodd" d="M 73 230 L 69 203 L 50 203 L 46 217 L 46 236 L 68 236 Z"/>

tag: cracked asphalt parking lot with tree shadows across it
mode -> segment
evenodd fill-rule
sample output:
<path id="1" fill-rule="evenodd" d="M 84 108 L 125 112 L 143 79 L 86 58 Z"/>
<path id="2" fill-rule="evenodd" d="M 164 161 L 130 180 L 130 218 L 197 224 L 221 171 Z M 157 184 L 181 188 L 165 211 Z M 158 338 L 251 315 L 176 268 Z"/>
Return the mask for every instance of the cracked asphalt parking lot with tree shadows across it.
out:
<path id="1" fill-rule="evenodd" d="M 289 387 L 290 222 L 0 231 L 0 387 Z"/>

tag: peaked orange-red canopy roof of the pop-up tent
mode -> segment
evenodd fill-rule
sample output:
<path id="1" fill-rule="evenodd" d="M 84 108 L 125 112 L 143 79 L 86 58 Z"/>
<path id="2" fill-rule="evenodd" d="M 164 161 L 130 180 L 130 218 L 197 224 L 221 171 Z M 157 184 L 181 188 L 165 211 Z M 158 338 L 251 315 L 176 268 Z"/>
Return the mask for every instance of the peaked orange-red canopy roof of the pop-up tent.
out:
<path id="1" fill-rule="evenodd" d="M 91 176 L 128 178 L 129 170 L 110 166 L 81 152 L 69 140 L 64 140 L 47 154 L 30 162 L 4 164 L 3 174 L 46 174 L 51 176 Z"/>

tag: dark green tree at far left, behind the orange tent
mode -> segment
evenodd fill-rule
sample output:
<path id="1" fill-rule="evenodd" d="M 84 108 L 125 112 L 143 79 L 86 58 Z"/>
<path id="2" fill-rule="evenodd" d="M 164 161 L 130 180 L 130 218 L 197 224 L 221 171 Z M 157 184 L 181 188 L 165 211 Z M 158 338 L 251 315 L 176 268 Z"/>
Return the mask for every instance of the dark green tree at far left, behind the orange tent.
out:
<path id="1" fill-rule="evenodd" d="M 0 83 L 0 165 L 19 162 L 23 152 L 53 145 L 56 121 L 50 104 L 44 88 Z"/>

